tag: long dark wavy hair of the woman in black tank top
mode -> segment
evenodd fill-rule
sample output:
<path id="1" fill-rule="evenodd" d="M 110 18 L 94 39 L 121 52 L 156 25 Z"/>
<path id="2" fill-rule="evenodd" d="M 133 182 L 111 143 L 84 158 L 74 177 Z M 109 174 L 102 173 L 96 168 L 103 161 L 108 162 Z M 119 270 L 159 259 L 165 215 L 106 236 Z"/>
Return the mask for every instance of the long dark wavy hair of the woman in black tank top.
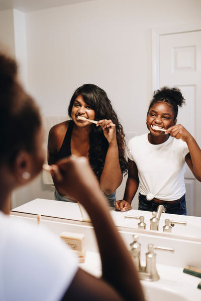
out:
<path id="1" fill-rule="evenodd" d="M 81 95 L 84 102 L 90 105 L 91 109 L 95 111 L 95 120 L 111 119 L 116 125 L 120 167 L 122 173 L 126 173 L 128 166 L 125 158 L 125 134 L 106 92 L 93 84 L 85 84 L 77 88 L 72 95 L 68 107 L 69 117 L 71 117 L 72 106 L 78 95 Z M 92 127 L 89 134 L 89 143 L 89 163 L 96 177 L 100 179 L 109 146 L 108 140 L 104 136 L 103 130 L 100 126 Z"/>

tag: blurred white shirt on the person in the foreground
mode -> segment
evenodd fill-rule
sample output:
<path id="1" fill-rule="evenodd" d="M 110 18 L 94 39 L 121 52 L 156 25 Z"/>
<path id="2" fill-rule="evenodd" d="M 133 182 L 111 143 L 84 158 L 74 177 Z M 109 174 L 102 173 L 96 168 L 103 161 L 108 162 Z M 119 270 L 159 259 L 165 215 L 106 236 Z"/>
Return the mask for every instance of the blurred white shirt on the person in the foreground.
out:
<path id="1" fill-rule="evenodd" d="M 60 237 L 0 212 L 0 241 L 1 301 L 61 300 L 78 260 Z"/>

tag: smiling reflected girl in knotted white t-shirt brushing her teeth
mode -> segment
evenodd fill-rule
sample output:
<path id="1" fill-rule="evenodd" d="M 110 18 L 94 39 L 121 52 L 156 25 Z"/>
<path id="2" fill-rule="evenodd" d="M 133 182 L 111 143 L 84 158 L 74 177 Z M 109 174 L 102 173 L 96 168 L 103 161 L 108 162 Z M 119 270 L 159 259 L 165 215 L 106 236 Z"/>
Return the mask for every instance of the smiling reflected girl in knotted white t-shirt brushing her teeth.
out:
<path id="1" fill-rule="evenodd" d="M 129 141 L 129 173 L 124 200 L 117 210 L 131 209 L 140 185 L 139 210 L 186 215 L 184 173 L 186 163 L 194 177 L 201 181 L 201 150 L 195 139 L 176 124 L 178 106 L 184 98 L 178 88 L 163 87 L 154 93 L 147 113 L 149 133 Z"/>

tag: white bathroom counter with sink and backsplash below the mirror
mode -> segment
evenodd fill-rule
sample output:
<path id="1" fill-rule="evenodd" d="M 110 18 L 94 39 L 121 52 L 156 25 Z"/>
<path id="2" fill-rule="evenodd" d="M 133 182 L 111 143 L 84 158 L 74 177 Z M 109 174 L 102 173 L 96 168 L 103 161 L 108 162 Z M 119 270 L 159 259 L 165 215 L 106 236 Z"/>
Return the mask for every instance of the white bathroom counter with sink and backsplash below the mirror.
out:
<path id="1" fill-rule="evenodd" d="M 91 223 L 83 223 L 81 221 L 69 222 L 69 220 L 41 217 L 40 225 L 37 224 L 37 215 L 10 215 L 13 220 L 23 219 L 32 223 L 36 227 L 46 227 L 56 235 L 60 235 L 62 231 L 69 231 L 84 234 L 86 258 L 84 263 L 80 263 L 80 267 L 89 273 L 99 277 L 102 273 L 100 256 L 98 253 L 97 243 L 94 230 Z M 125 229 L 124 227 L 122 229 Z M 197 288 L 200 278 L 183 273 L 186 265 L 191 265 L 201 269 L 201 242 L 188 239 L 177 239 L 173 235 L 161 235 L 161 233 L 153 233 L 154 231 L 141 231 L 140 229 L 127 229 L 119 232 L 130 246 L 133 241 L 133 234 L 139 235 L 141 243 L 141 263 L 145 264 L 145 253 L 148 244 L 155 246 L 164 246 L 174 248 L 174 252 L 155 250 L 156 268 L 160 279 L 158 281 L 141 280 L 144 288 L 146 301 L 199 301 L 201 300 L 201 290 Z M 134 231 L 135 230 L 135 231 Z M 158 231 L 157 231 L 158 232 Z M 182 254 L 182 255 L 181 255 Z"/>

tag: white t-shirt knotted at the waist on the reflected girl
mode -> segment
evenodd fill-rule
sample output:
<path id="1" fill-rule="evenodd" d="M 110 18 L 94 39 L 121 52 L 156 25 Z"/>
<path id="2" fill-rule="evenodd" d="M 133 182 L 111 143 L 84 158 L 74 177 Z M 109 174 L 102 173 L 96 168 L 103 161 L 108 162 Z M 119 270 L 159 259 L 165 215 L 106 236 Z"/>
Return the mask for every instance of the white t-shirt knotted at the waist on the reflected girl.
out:
<path id="1" fill-rule="evenodd" d="M 140 193 L 162 201 L 180 199 L 188 153 L 186 142 L 171 136 L 161 144 L 151 144 L 147 133 L 130 139 L 128 158 L 137 165 Z"/>

